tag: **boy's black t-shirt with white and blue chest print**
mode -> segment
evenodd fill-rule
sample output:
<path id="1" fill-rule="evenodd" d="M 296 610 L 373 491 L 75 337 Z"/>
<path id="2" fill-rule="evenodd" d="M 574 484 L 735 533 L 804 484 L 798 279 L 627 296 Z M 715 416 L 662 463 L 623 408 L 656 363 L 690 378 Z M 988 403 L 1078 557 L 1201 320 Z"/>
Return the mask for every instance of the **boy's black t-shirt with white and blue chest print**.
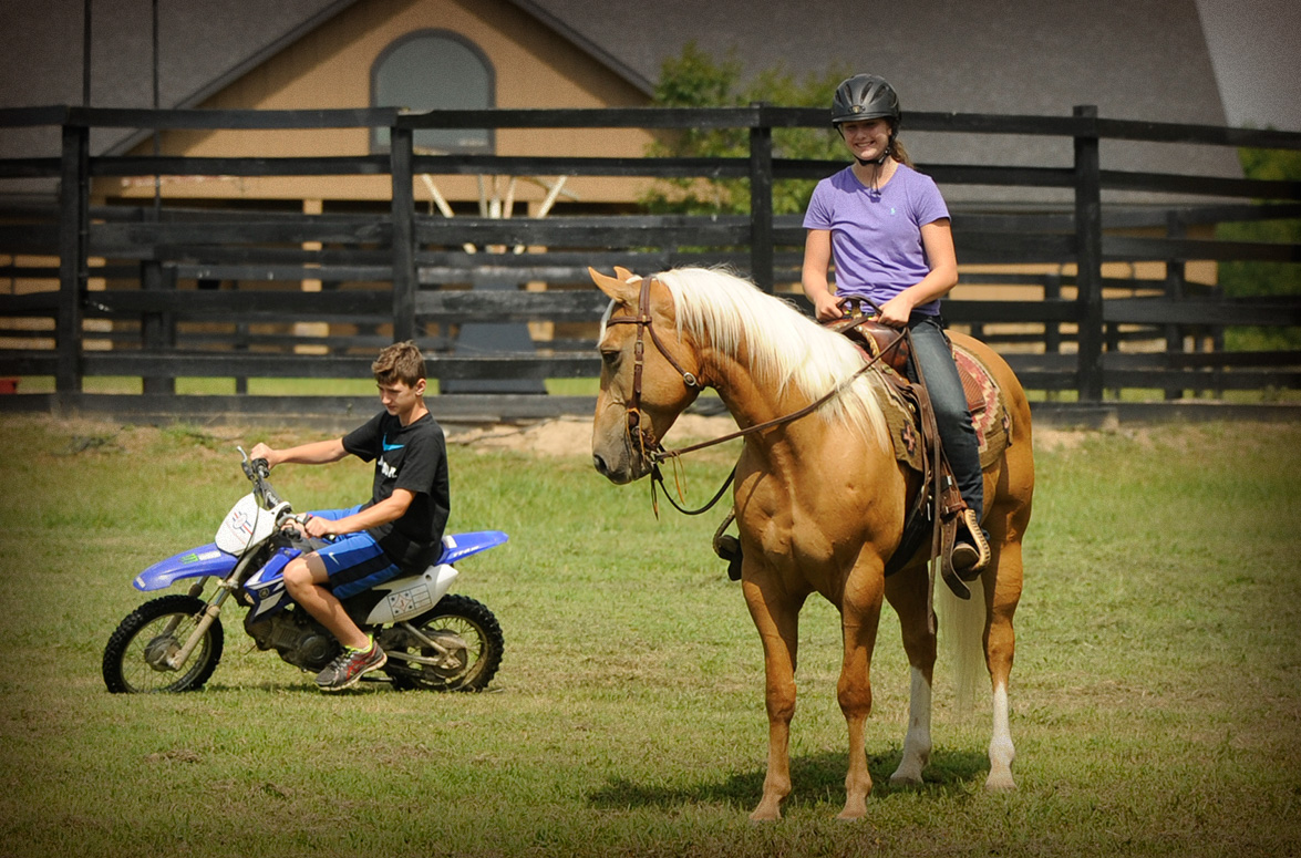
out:
<path id="1" fill-rule="evenodd" d="M 343 448 L 363 462 L 375 462 L 375 486 L 367 507 L 385 500 L 394 489 L 414 495 L 401 519 L 368 530 L 384 552 L 403 571 L 436 560 L 451 511 L 442 426 L 428 413 L 403 426 L 381 411 L 343 436 Z"/>

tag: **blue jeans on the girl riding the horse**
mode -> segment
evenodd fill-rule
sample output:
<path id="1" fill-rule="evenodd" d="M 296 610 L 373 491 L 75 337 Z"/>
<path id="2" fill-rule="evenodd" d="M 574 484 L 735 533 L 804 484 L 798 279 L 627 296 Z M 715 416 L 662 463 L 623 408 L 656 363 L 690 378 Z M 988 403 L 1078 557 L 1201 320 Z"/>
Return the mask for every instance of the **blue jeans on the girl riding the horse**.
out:
<path id="1" fill-rule="evenodd" d="M 935 411 L 939 443 L 943 445 L 945 455 L 948 456 L 948 464 L 954 469 L 958 490 L 963 493 L 963 500 L 976 512 L 978 521 L 985 510 L 980 442 L 976 439 L 976 428 L 972 426 L 972 415 L 967 410 L 967 394 L 958 374 L 958 364 L 954 363 L 954 352 L 950 350 L 948 338 L 945 337 L 938 316 L 913 313 L 908 320 L 908 328 L 912 330 L 913 360 L 921 364 L 921 372 L 926 377 L 926 391 Z M 917 381 L 911 365 L 908 377 L 909 381 Z"/>

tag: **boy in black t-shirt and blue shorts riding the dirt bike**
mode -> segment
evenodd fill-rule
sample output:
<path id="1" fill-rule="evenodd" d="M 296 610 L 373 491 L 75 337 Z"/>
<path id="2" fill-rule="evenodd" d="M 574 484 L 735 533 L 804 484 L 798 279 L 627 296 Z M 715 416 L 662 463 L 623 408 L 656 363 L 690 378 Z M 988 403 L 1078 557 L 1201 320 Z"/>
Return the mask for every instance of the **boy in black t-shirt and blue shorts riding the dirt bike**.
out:
<path id="1" fill-rule="evenodd" d="M 251 458 L 278 464 L 327 464 L 353 454 L 375 460 L 371 499 L 346 510 L 312 512 L 310 537 L 334 537 L 285 567 L 285 589 L 343 646 L 316 676 L 323 692 L 351 688 L 388 658 L 349 618 L 340 599 L 399 573 L 425 568 L 437 558 L 451 507 L 448 447 L 442 428 L 424 404 L 425 369 L 411 341 L 394 343 L 371 364 L 384 411 L 342 438 L 275 450 L 254 446 Z"/>

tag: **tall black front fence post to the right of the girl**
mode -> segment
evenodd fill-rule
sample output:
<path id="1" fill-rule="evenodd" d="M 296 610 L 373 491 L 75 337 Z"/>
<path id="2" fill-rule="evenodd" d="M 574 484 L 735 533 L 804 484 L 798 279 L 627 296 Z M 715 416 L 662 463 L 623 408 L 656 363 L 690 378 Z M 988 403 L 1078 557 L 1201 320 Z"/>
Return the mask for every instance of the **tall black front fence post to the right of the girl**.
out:
<path id="1" fill-rule="evenodd" d="M 1102 179 L 1097 105 L 1075 108 L 1076 320 L 1079 324 L 1080 402 L 1102 400 Z"/>

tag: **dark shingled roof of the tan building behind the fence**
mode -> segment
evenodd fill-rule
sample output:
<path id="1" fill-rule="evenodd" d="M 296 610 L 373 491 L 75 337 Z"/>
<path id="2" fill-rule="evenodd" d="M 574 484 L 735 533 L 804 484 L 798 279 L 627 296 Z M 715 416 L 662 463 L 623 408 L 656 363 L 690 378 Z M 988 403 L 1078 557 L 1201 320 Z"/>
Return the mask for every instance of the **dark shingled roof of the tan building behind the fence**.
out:
<path id="1" fill-rule="evenodd" d="M 160 104 L 198 104 L 358 1 L 368 0 L 160 3 Z M 532 14 L 648 94 L 664 60 L 695 42 L 718 57 L 731 52 L 748 73 L 781 65 L 798 75 L 831 66 L 881 74 L 905 114 L 1067 116 L 1095 104 L 1111 118 L 1224 125 L 1194 0 L 496 1 Z M 151 4 L 105 5 L 92 6 L 91 104 L 148 107 Z M 82 12 L 82 0 L 0 4 L 0 31 L 23 46 L 0 55 L 0 105 L 81 103 Z M 92 150 L 111 150 L 127 134 L 98 134 Z M 921 162 L 1071 162 L 1069 142 L 907 130 L 905 139 Z M 49 155 L 57 146 L 55 131 L 9 129 L 0 156 Z M 1114 169 L 1241 174 L 1226 148 L 1103 146 Z"/>

